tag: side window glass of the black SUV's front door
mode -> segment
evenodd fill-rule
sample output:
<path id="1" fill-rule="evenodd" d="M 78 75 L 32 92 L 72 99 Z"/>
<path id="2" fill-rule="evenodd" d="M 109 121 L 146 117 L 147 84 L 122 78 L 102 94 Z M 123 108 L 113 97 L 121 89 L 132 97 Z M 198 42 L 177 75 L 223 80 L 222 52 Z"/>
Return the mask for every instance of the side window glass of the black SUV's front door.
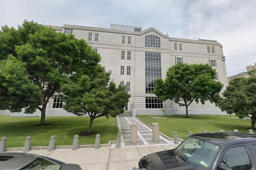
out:
<path id="1" fill-rule="evenodd" d="M 252 168 L 245 147 L 228 149 L 224 153 L 220 166 L 227 166 L 232 170 L 250 170 Z"/>

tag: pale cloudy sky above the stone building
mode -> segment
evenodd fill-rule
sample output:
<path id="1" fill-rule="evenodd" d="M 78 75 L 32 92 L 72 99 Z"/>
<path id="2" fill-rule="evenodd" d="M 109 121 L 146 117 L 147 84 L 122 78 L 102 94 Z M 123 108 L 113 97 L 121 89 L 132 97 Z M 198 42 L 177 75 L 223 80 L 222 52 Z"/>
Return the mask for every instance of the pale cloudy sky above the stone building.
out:
<path id="1" fill-rule="evenodd" d="M 170 37 L 223 45 L 228 76 L 256 63 L 256 0 L 0 0 L 0 25 L 23 20 L 110 28 L 154 27 Z M 44 21 L 44 22 L 43 22 Z"/>

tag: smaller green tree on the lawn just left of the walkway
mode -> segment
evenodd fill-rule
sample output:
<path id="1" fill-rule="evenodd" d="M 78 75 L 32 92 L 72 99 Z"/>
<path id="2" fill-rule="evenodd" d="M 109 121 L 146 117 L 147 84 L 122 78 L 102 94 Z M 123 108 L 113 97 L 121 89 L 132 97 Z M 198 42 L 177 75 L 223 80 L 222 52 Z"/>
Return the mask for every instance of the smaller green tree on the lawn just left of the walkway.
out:
<path id="1" fill-rule="evenodd" d="M 81 75 L 79 78 L 72 78 L 68 83 L 63 84 L 61 91 L 64 93 L 64 109 L 78 116 L 88 114 L 90 123 L 87 133 L 92 132 L 94 119 L 102 116 L 116 117 L 124 112 L 130 94 L 125 86 L 110 81 L 110 72 L 98 65 L 95 72 Z"/>

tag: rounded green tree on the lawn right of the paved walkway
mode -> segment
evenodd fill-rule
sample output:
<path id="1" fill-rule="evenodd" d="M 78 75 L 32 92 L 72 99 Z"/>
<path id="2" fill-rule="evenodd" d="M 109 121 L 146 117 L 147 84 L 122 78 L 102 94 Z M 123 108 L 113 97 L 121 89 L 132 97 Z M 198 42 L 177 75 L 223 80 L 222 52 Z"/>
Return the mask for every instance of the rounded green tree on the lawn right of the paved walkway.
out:
<path id="1" fill-rule="evenodd" d="M 194 100 L 202 104 L 207 100 L 215 102 L 214 94 L 223 87 L 221 82 L 213 80 L 215 73 L 215 69 L 208 64 L 178 63 L 168 69 L 165 80 L 156 80 L 154 94 L 162 101 L 170 99 L 184 104 L 188 117 L 188 106 Z"/>

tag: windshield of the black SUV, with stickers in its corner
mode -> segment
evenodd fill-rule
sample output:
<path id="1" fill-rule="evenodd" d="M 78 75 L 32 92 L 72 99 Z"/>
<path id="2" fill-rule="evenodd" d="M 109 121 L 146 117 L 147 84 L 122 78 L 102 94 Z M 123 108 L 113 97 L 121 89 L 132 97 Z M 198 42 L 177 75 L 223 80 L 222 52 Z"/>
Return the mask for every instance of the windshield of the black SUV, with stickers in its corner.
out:
<path id="1" fill-rule="evenodd" d="M 182 159 L 208 168 L 219 149 L 219 145 L 196 137 L 188 137 L 175 151 Z"/>

